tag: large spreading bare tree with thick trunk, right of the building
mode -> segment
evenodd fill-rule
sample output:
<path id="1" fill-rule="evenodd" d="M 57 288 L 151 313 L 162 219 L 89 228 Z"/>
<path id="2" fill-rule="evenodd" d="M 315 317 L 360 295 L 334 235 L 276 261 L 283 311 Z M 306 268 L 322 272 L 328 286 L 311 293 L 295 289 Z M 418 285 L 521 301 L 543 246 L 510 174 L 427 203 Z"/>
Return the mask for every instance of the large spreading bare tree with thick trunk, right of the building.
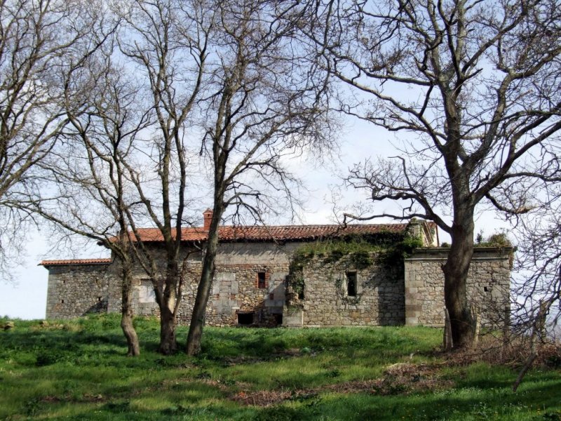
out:
<path id="1" fill-rule="evenodd" d="M 313 1 L 307 27 L 325 69 L 354 88 L 342 112 L 410 133 L 401 156 L 348 182 L 452 237 L 445 304 L 454 346 L 471 343 L 466 278 L 474 215 L 532 207 L 520 180 L 557 177 L 561 4 L 557 0 Z M 506 192 L 507 194 L 502 194 Z"/>

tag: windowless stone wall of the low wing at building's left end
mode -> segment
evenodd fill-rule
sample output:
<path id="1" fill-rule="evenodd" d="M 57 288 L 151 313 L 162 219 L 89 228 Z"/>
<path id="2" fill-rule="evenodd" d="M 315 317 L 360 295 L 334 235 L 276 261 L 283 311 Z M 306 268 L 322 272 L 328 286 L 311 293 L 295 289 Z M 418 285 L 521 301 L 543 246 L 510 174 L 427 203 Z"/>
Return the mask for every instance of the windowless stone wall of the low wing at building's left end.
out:
<path id="1" fill-rule="evenodd" d="M 47 319 L 72 319 L 88 313 L 105 313 L 109 304 L 111 265 L 49 267 Z"/>

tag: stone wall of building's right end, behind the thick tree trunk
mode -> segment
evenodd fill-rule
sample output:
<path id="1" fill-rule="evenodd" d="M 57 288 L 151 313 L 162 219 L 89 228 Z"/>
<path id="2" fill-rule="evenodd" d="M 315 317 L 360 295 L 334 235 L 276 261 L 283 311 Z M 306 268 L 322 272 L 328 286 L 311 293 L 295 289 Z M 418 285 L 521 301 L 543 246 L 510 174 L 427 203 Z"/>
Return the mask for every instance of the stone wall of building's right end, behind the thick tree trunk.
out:
<path id="1" fill-rule="evenodd" d="M 449 248 L 414 250 L 405 259 L 405 324 L 444 326 L 444 274 Z M 483 325 L 496 325 L 510 302 L 513 248 L 475 248 L 468 300 Z"/>

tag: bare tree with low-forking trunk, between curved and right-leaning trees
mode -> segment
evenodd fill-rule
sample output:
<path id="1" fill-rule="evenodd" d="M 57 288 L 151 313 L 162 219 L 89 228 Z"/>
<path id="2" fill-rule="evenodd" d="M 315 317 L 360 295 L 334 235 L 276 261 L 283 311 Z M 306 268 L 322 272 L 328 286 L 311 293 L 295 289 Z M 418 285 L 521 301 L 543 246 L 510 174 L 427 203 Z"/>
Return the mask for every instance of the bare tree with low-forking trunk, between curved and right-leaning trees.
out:
<path id="1" fill-rule="evenodd" d="M 185 142 L 188 119 L 201 95 L 214 12 L 205 1 L 136 0 L 130 10 L 119 13 L 126 22 L 121 53 L 139 72 L 156 116 L 142 152 L 155 168 L 158 195 L 151 194 L 154 183 L 147 182 L 147 165 L 127 165 L 127 170 L 148 221 L 163 239 L 164 262 L 154 250 L 143 248 L 140 263 L 154 284 L 160 309 L 159 351 L 171 354 L 177 349 L 175 327 L 184 280 L 181 250 L 189 165 Z"/>

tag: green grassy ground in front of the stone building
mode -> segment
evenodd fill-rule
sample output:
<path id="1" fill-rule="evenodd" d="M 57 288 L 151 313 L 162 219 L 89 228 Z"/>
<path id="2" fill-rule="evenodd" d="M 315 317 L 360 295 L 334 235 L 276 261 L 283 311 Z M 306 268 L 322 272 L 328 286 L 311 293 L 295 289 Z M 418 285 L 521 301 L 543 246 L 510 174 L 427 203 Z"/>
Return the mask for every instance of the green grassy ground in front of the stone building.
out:
<path id="1" fill-rule="evenodd" d="M 514 394 L 514 368 L 445 364 L 436 329 L 205 328 L 189 358 L 135 323 L 137 358 L 114 315 L 0 331 L 0 420 L 561 420 L 559 368 Z"/>

